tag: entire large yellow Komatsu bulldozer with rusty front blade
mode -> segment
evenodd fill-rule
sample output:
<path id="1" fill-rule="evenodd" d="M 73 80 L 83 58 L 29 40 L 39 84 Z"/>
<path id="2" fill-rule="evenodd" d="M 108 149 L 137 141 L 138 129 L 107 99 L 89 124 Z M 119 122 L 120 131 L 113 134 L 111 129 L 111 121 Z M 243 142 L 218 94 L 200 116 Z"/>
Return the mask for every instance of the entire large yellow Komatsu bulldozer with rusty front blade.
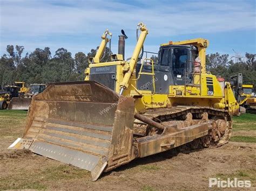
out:
<path id="1" fill-rule="evenodd" d="M 147 34 L 139 23 L 131 58 L 119 36 L 119 54 L 102 62 L 106 30 L 85 81 L 52 83 L 33 96 L 23 137 L 9 148 L 86 169 L 95 181 L 136 158 L 227 143 L 239 104 L 229 82 L 206 72 L 208 40 L 161 44 L 154 62 L 143 59 Z"/>

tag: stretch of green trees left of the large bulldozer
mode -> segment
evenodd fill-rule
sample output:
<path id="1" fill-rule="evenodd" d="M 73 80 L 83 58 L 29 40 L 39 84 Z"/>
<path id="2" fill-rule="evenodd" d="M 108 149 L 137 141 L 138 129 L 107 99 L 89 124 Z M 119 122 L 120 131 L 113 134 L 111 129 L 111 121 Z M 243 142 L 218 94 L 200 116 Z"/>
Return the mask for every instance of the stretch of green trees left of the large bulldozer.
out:
<path id="1" fill-rule="evenodd" d="M 78 52 L 72 58 L 71 52 L 65 48 L 58 48 L 53 55 L 49 47 L 36 48 L 22 56 L 23 46 L 8 45 L 7 53 L 0 60 L 0 84 L 14 81 L 30 84 L 83 80 L 84 70 L 89 65 L 88 58 L 95 56 L 97 48 L 91 49 L 87 55 Z M 102 60 L 107 60 L 108 55 L 107 48 Z"/>

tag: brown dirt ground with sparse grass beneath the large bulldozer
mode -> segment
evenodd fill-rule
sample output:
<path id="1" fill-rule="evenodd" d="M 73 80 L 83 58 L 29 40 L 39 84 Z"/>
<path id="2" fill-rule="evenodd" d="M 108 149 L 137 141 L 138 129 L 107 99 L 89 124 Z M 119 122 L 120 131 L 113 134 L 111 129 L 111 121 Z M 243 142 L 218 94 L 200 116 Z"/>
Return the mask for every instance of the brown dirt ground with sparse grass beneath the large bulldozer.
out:
<path id="1" fill-rule="evenodd" d="M 137 159 L 96 182 L 90 172 L 29 151 L 6 148 L 22 136 L 25 113 L 0 113 L 0 189 L 78 189 L 78 190 L 198 190 L 208 189 L 208 178 L 250 180 L 256 188 L 255 122 L 250 130 L 234 130 L 235 137 L 249 136 L 244 142 L 230 142 L 218 148 L 190 152 L 167 151 Z M 247 115 L 247 114 L 246 114 Z M 240 119 L 239 119 L 240 120 Z M 242 124 L 240 121 L 236 124 Z M 3 124 L 3 122 L 8 122 Z M 244 122 L 243 122 L 244 123 Z M 238 125 L 240 126 L 240 125 Z M 247 122 L 244 125 L 246 128 Z M 251 132 L 251 133 L 248 133 Z M 248 143 L 246 143 L 248 141 Z"/>

